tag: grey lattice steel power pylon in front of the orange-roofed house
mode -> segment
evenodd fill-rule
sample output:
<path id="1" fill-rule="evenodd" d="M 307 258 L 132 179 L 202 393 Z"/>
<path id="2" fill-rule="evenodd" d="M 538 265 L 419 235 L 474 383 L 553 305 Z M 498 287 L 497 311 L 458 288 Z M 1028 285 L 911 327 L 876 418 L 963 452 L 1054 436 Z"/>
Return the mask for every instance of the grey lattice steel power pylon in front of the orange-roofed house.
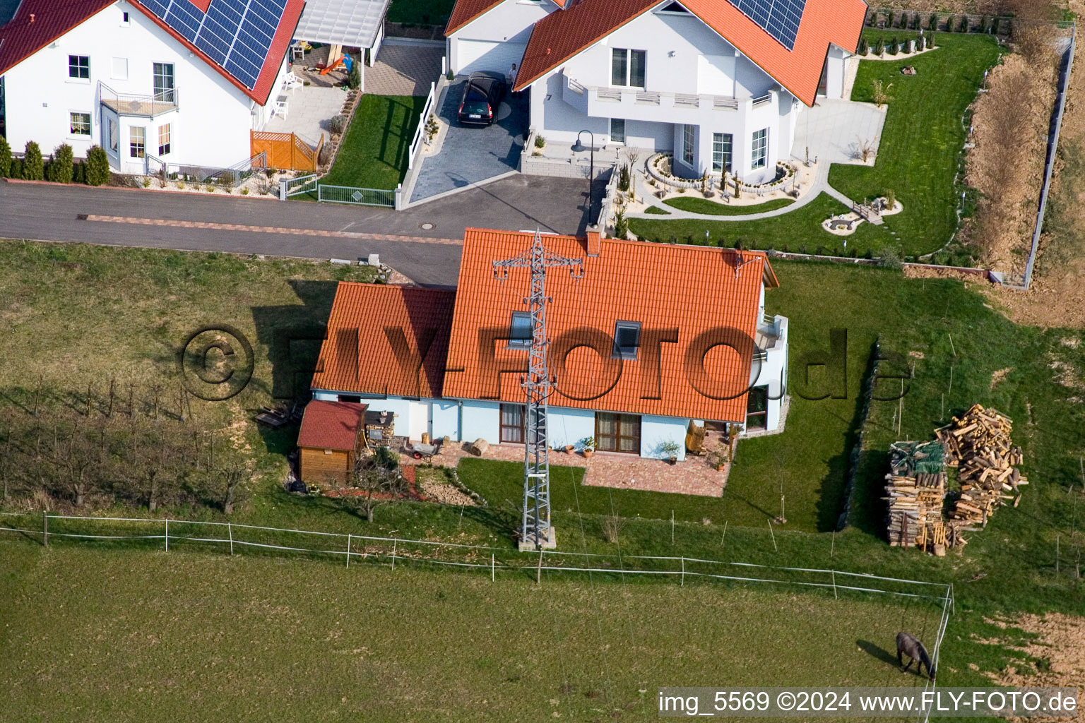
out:
<path id="1" fill-rule="evenodd" d="M 542 234 L 535 232 L 532 247 L 510 259 L 494 261 L 494 277 L 505 281 L 508 270 L 531 270 L 531 294 L 524 298 L 532 324 L 532 343 L 527 357 L 527 375 L 521 386 L 527 395 L 524 429 L 524 507 L 520 527 L 520 548 L 539 550 L 557 544 L 550 526 L 550 454 L 547 450 L 547 399 L 554 379 L 547 370 L 546 270 L 569 267 L 574 279 L 584 276 L 584 259 L 567 258 L 547 250 Z"/>

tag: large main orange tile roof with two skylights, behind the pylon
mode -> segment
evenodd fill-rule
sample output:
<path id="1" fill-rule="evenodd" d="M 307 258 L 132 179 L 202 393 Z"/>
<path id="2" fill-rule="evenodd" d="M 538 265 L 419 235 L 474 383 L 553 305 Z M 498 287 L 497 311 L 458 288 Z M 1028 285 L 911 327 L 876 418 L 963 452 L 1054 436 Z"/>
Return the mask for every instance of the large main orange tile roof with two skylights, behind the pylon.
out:
<path id="1" fill-rule="evenodd" d="M 505 281 L 498 281 L 493 261 L 521 254 L 533 238 L 532 233 L 467 230 L 446 397 L 523 401 L 516 370 L 526 367 L 526 352 L 495 343 L 496 367 L 509 370 L 500 375 L 498 388 L 496 367 L 486 361 L 481 339 L 486 328 L 494 336 L 507 336 L 512 312 L 526 311 L 528 272 L 512 269 Z M 542 238 L 551 253 L 584 259 L 583 279 L 573 279 L 563 269 L 547 274 L 546 293 L 552 298 L 547 307 L 550 372 L 558 379 L 551 404 L 719 421 L 745 418 L 761 285 L 763 280 L 777 285 L 764 254 L 602 240 L 599 256 L 590 257 L 586 240 Z M 636 360 L 611 359 L 607 339 L 620 320 L 641 324 Z M 729 331 L 712 332 L 722 327 Z M 665 335 L 675 341 L 652 345 L 647 336 L 650 330 L 676 330 L 673 337 Z M 574 338 L 565 336 L 573 334 L 579 341 L 561 340 Z M 583 346 L 592 336 L 599 339 L 602 353 Z M 691 352 L 698 349 L 695 339 L 715 346 L 706 352 L 703 348 Z M 719 346 L 724 341 L 732 348 Z M 560 357 L 565 350 L 569 354 L 562 367 Z M 706 377 L 697 373 L 702 362 Z"/>

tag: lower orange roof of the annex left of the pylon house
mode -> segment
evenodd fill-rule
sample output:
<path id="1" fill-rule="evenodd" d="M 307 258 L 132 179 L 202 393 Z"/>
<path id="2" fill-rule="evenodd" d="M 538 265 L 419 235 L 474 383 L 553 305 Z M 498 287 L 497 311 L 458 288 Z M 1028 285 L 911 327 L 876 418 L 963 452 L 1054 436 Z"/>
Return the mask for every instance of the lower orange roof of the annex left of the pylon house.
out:
<path id="1" fill-rule="evenodd" d="M 455 298 L 450 291 L 341 282 L 312 388 L 441 397 Z"/>

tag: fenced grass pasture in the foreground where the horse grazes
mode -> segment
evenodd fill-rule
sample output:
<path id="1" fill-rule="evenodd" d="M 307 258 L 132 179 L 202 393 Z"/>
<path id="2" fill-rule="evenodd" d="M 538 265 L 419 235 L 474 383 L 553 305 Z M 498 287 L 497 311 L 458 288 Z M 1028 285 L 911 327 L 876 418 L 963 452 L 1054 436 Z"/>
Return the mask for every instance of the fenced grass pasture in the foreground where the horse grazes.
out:
<path id="1" fill-rule="evenodd" d="M 888 596 L 16 541 L 0 581 L 9 723 L 655 720 L 662 685 L 922 686 L 893 641 L 940 617 Z"/>

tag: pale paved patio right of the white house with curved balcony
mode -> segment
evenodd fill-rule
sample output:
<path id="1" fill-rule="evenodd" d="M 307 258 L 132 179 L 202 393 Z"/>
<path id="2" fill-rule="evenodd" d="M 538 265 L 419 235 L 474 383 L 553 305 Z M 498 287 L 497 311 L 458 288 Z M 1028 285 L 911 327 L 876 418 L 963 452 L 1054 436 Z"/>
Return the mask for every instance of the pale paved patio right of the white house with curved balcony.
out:
<path id="1" fill-rule="evenodd" d="M 885 108 L 819 98 L 817 105 L 805 108 L 799 117 L 791 155 L 804 159 L 809 146 L 810 160 L 817 157 L 819 166 L 830 163 L 863 165 L 856 157 L 859 143 L 871 143 L 877 152 L 884 125 Z M 872 157 L 867 165 L 871 163 Z"/>

